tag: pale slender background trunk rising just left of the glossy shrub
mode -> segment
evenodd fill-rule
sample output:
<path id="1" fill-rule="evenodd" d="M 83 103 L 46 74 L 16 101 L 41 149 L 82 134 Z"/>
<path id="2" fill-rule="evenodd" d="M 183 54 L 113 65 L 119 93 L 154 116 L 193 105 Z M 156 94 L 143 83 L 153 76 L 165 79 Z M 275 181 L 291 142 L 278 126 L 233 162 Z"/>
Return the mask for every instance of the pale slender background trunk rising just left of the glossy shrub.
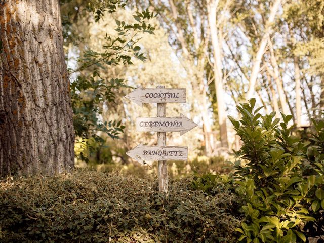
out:
<path id="1" fill-rule="evenodd" d="M 228 148 L 227 141 L 227 126 L 226 126 L 226 109 L 223 88 L 223 74 L 221 62 L 221 47 L 218 39 L 218 29 L 216 26 L 216 11 L 218 0 L 208 0 L 208 22 L 210 26 L 210 33 L 212 37 L 212 45 L 214 49 L 214 76 L 215 76 L 215 89 L 217 99 L 218 121 L 220 128 L 220 138 L 222 147 Z"/>

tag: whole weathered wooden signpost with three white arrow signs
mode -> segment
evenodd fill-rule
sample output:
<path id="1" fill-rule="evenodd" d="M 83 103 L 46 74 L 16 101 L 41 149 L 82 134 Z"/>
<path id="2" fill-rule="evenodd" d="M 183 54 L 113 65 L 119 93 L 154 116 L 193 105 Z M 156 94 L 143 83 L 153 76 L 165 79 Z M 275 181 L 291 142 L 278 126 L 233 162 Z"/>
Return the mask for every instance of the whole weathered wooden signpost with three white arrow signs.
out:
<path id="1" fill-rule="evenodd" d="M 188 148 L 166 146 L 166 132 L 180 132 L 180 135 L 197 126 L 192 120 L 180 114 L 179 117 L 166 117 L 166 103 L 185 103 L 186 89 L 137 88 L 126 98 L 139 106 L 143 103 L 157 103 L 157 117 L 138 117 L 136 130 L 140 132 L 157 132 L 157 146 L 136 146 L 126 154 L 144 164 L 145 161 L 158 161 L 158 188 L 168 192 L 167 160 L 187 160 Z"/>

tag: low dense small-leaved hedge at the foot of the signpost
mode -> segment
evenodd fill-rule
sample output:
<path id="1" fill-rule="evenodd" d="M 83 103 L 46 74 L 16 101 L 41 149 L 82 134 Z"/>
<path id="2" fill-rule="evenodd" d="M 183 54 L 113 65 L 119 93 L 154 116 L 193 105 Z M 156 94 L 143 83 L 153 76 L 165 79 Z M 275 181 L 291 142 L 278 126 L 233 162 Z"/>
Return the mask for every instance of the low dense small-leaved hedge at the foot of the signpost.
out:
<path id="1" fill-rule="evenodd" d="M 190 179 L 157 182 L 80 172 L 1 182 L 1 242 L 231 242 L 235 196 L 207 196 Z"/>

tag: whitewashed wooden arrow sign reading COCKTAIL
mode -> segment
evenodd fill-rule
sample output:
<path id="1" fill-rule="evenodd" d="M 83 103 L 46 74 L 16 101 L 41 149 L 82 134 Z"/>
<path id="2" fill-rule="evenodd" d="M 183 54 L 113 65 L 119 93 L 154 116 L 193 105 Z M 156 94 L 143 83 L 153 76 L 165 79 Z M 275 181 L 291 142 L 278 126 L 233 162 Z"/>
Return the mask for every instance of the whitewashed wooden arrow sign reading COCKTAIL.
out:
<path id="1" fill-rule="evenodd" d="M 143 103 L 185 103 L 186 89 L 137 88 L 125 96 L 139 106 Z"/>

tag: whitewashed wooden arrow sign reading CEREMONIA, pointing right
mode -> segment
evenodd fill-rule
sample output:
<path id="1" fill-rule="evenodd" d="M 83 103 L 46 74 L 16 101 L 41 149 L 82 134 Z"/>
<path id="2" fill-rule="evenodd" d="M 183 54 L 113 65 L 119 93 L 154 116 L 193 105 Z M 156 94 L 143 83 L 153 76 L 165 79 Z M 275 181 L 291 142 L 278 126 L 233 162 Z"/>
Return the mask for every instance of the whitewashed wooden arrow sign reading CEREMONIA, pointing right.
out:
<path id="1" fill-rule="evenodd" d="M 180 132 L 183 135 L 196 126 L 197 124 L 183 114 L 179 117 L 136 118 L 136 130 L 139 132 Z"/>

